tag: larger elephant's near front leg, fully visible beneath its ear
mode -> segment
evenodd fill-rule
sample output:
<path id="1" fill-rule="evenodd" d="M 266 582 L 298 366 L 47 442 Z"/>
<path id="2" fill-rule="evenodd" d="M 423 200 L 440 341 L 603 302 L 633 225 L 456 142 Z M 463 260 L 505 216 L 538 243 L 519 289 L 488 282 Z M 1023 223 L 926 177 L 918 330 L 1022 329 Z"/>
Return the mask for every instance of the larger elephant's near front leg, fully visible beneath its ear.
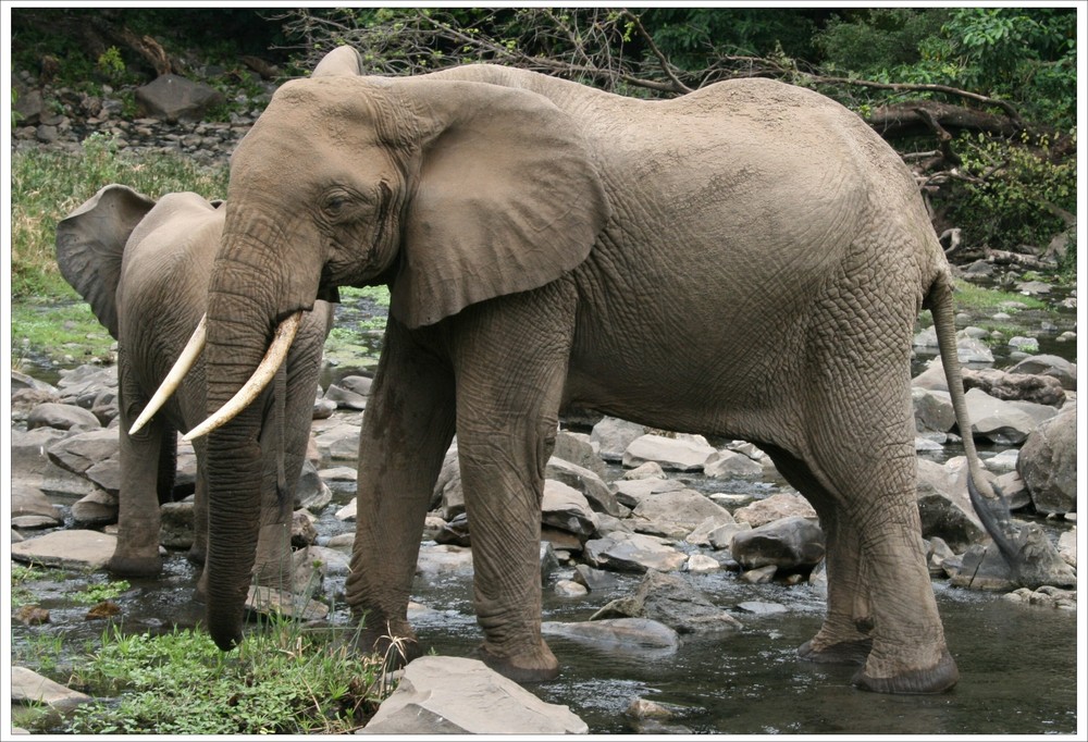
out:
<path id="1" fill-rule="evenodd" d="M 559 672 L 541 636 L 541 499 L 574 307 L 572 288 L 560 283 L 457 318 L 457 449 L 485 638 L 480 655 L 518 682 Z"/>

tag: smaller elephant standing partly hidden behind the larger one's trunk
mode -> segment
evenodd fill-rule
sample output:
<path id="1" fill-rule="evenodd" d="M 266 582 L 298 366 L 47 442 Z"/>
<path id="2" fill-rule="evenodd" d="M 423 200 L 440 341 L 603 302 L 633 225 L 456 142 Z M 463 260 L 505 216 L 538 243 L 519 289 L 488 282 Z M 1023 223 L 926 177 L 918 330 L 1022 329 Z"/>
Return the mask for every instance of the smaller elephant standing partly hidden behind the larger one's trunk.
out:
<path id="1" fill-rule="evenodd" d="M 208 283 L 223 230 L 223 208 L 191 193 L 158 203 L 122 185 L 109 185 L 57 225 L 61 273 L 118 341 L 121 492 L 118 546 L 109 569 L 156 574 L 159 505 L 172 499 L 177 432 L 203 419 L 203 361 L 141 431 L 128 429 L 173 367 L 208 304 Z M 317 302 L 306 316 L 279 374 L 283 404 L 273 392 L 261 403 L 261 532 L 257 578 L 290 584 L 290 516 L 306 456 L 321 349 L 332 306 Z M 273 387 L 276 385 L 273 384 Z M 196 534 L 189 558 L 203 564 L 208 542 L 207 442 L 196 441 Z M 283 492 L 277 482 L 283 478 Z"/>

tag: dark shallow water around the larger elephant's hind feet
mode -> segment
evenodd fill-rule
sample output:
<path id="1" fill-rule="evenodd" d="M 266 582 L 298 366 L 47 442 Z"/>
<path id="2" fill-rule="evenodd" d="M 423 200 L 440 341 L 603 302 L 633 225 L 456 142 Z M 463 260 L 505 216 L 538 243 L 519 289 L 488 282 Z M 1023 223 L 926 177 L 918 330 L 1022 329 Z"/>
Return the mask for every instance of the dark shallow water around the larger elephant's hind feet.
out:
<path id="1" fill-rule="evenodd" d="M 636 580 L 635 580 L 636 581 Z M 625 712 L 635 698 L 673 708 L 677 727 L 642 731 L 719 734 L 1044 734 L 1077 730 L 1076 616 L 1072 611 L 1010 604 L 988 593 L 935 583 L 960 683 L 935 696 L 875 694 L 854 689 L 856 668 L 799 660 L 796 647 L 820 624 L 824 601 L 808 585 L 742 586 L 733 576 L 702 580 L 721 606 L 744 599 L 777 602 L 784 614 L 738 614 L 742 631 L 692 640 L 671 656 L 594 648 L 548 638 L 560 677 L 531 687 L 564 704 L 594 734 L 638 733 Z M 632 585 L 633 586 L 633 582 Z M 548 620 L 582 620 L 616 595 L 572 607 L 546 597 Z M 482 634 L 471 620 L 452 620 L 470 595 L 466 580 L 430 595 L 440 609 L 423 622 L 420 640 L 440 654 L 468 655 Z"/>

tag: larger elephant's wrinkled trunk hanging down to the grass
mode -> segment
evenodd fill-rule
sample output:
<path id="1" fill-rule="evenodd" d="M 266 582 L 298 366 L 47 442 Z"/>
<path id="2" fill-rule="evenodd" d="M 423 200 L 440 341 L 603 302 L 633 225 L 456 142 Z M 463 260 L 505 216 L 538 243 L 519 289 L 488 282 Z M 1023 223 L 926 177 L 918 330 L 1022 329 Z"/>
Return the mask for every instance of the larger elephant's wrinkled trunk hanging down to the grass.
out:
<path id="1" fill-rule="evenodd" d="M 276 309 L 269 276 L 255 274 L 224 239 L 208 302 L 205 363 L 208 412 L 219 410 L 245 384 L 268 347 Z M 262 285 L 263 284 L 263 285 Z M 260 285 L 258 290 L 250 290 Z M 215 644 L 230 650 L 242 641 L 245 598 L 251 582 L 260 529 L 263 461 L 260 433 L 263 397 L 243 409 L 208 440 L 207 620 Z"/>

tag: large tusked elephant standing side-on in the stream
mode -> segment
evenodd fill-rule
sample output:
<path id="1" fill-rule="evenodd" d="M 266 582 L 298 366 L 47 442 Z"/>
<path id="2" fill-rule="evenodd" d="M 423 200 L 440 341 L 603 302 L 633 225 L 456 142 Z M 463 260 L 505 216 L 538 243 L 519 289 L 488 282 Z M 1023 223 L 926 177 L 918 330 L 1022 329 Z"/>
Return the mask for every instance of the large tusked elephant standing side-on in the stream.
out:
<path id="1" fill-rule="evenodd" d="M 347 583 L 362 648 L 415 641 L 420 532 L 456 433 L 480 656 L 517 680 L 556 676 L 539 509 L 560 411 L 578 405 L 756 443 L 828 539 L 827 616 L 802 655 L 863 657 L 855 682 L 876 691 L 955 683 L 910 392 L 928 308 L 968 430 L 952 277 L 910 172 L 856 115 L 766 79 L 669 101 L 484 64 L 287 83 L 232 161 L 209 411 L 281 320 L 379 283 L 391 317 Z M 223 648 L 242 640 L 259 511 L 237 493 L 258 473 L 259 430 L 250 410 L 210 437 L 208 627 Z"/>

